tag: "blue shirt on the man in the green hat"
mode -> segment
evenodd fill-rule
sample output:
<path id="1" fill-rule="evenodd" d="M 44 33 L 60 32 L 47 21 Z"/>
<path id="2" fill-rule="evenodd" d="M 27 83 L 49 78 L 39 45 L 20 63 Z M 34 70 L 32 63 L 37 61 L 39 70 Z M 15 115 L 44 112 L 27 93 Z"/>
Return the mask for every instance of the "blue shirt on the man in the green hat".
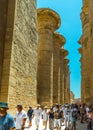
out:
<path id="1" fill-rule="evenodd" d="M 10 128 L 15 128 L 14 118 L 8 113 L 0 116 L 0 130 L 10 130 Z"/>

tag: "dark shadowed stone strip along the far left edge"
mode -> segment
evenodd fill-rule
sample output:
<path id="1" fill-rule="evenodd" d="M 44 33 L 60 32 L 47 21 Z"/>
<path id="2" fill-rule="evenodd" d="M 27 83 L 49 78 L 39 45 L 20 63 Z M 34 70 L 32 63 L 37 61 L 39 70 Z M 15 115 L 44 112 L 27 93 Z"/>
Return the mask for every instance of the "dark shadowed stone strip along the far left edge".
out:
<path id="1" fill-rule="evenodd" d="M 1 89 L 4 42 L 5 42 L 5 32 L 6 32 L 6 18 L 7 18 L 7 1 L 0 0 L 0 89 Z"/>

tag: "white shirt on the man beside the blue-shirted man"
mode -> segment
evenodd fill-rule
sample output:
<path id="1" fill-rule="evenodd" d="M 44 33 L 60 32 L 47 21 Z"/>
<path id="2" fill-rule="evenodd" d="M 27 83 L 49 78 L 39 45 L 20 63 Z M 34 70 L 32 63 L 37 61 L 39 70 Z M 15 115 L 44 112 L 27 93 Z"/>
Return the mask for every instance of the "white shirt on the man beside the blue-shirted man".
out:
<path id="1" fill-rule="evenodd" d="M 24 110 L 22 110 L 20 113 L 16 112 L 16 129 L 21 129 L 23 119 L 27 118 L 27 114 Z"/>

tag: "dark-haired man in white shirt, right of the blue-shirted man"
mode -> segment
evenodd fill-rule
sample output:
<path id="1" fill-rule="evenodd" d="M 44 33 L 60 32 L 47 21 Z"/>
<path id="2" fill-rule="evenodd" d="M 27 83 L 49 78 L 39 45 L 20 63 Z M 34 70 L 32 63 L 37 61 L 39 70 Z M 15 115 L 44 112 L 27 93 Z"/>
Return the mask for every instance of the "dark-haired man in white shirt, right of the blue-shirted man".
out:
<path id="1" fill-rule="evenodd" d="M 26 119 L 27 119 L 26 112 L 23 110 L 22 105 L 18 104 L 17 112 L 16 112 L 16 116 L 15 116 L 16 130 L 24 130 Z"/>

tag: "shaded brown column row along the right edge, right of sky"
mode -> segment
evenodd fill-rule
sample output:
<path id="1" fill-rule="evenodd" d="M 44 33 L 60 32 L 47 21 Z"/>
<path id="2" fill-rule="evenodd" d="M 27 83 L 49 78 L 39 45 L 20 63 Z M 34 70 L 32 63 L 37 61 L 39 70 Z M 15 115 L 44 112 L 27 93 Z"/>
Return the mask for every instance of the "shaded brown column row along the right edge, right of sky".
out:
<path id="1" fill-rule="evenodd" d="M 81 47 L 81 100 L 93 104 L 93 0 L 83 2 Z"/>

